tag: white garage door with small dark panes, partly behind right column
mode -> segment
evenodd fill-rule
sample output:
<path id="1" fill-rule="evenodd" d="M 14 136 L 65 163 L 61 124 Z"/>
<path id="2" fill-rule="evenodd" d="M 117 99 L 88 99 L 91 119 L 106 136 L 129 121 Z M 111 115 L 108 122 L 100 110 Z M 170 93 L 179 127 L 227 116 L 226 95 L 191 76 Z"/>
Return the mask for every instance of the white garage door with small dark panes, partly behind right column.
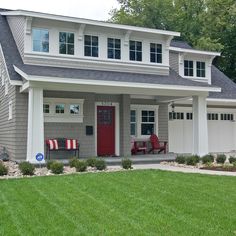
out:
<path id="1" fill-rule="evenodd" d="M 184 108 L 184 111 L 177 110 L 175 113 L 174 119 L 169 120 L 169 151 L 191 153 L 193 150 L 191 109 Z M 209 152 L 230 152 L 236 149 L 235 118 L 235 110 L 208 109 Z"/>

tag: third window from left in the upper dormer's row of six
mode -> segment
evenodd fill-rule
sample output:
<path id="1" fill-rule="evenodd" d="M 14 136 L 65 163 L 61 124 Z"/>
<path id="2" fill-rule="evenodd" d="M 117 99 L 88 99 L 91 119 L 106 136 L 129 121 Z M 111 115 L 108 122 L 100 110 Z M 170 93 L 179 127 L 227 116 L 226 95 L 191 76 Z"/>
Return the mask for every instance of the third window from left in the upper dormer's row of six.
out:
<path id="1" fill-rule="evenodd" d="M 98 57 L 98 37 L 85 35 L 84 37 L 84 55 L 89 57 Z"/>

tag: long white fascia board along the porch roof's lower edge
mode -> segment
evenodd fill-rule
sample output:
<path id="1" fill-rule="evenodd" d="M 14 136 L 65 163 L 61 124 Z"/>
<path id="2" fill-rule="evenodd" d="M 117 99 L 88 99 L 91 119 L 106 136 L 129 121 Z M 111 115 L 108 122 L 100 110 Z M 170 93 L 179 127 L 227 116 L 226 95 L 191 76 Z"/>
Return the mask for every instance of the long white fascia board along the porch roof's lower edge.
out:
<path id="1" fill-rule="evenodd" d="M 181 85 L 164 85 L 164 84 L 148 84 L 148 83 L 133 83 L 133 82 L 117 82 L 105 80 L 88 80 L 88 79 L 71 79 L 58 77 L 44 76 L 28 76 L 29 81 L 34 82 L 50 82 L 50 83 L 65 83 L 65 84 L 81 84 L 81 85 L 97 85 L 97 86 L 112 86 L 126 88 L 150 88 L 150 89 L 168 89 L 177 91 L 197 91 L 197 92 L 221 92 L 218 87 L 201 87 L 201 86 L 181 86 Z"/>

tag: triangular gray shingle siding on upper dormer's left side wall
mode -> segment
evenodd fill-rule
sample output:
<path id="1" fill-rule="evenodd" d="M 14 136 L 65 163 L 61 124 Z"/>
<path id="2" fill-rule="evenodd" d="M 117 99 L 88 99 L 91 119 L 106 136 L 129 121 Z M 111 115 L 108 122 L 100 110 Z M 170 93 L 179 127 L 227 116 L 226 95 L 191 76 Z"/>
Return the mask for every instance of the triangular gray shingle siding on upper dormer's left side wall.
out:
<path id="1" fill-rule="evenodd" d="M 10 26 L 13 38 L 22 58 L 24 58 L 24 33 L 25 33 L 25 17 L 8 16 L 8 25 Z"/>

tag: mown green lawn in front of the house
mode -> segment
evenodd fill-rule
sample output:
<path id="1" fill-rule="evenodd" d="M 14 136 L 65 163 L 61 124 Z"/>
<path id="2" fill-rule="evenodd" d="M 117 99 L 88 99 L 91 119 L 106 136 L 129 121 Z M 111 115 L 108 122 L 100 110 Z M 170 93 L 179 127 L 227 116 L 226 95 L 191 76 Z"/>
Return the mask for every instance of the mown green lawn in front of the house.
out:
<path id="1" fill-rule="evenodd" d="M 1 180 L 0 235 L 236 235 L 236 178 L 145 170 Z"/>

